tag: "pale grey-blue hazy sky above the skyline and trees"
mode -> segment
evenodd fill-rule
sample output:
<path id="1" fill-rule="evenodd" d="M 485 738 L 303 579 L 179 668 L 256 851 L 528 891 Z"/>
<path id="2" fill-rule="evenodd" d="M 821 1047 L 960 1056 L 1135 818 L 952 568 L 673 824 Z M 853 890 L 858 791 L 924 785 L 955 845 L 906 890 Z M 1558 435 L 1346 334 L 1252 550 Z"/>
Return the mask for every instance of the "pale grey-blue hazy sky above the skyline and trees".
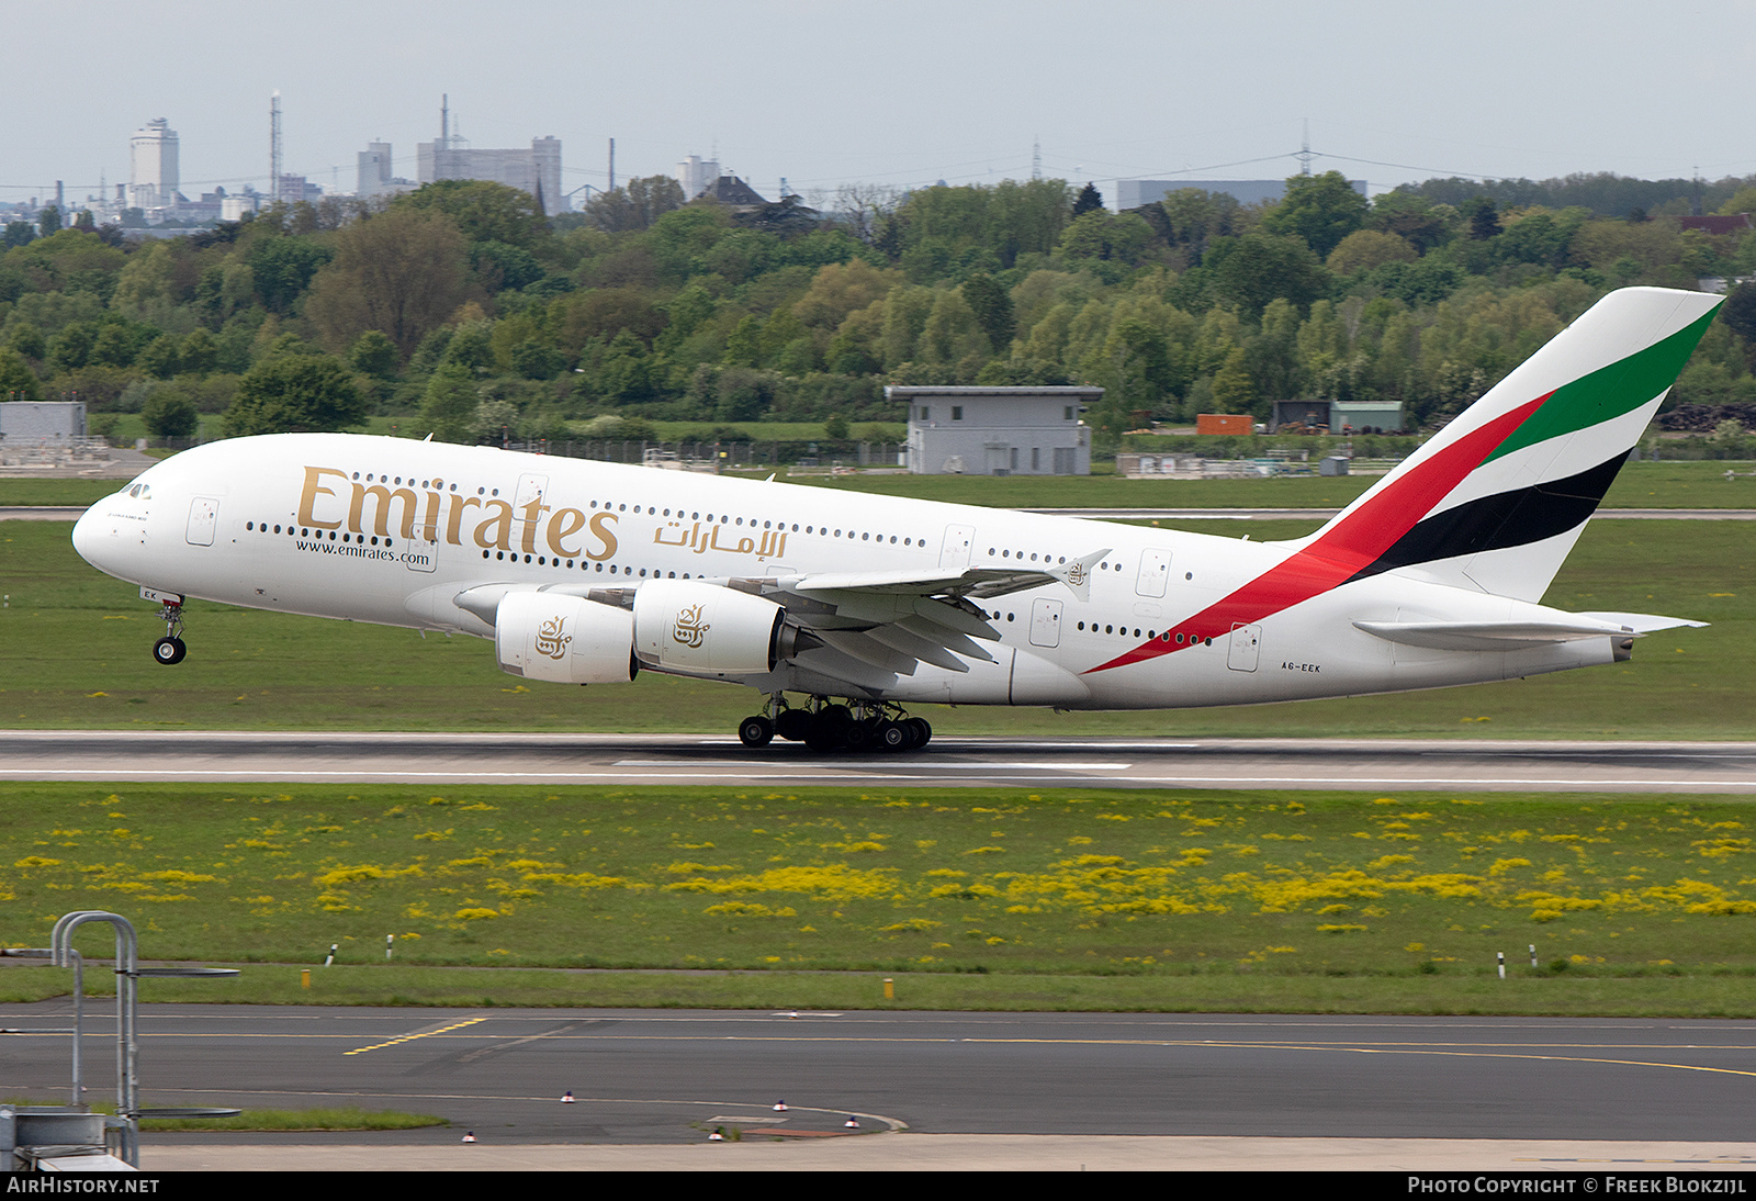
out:
<path id="1" fill-rule="evenodd" d="M 167 118 L 183 193 L 351 191 L 369 140 L 562 139 L 564 190 L 688 155 L 774 197 L 1047 177 L 1756 174 L 1756 0 L 91 0 L 9 5 L 0 200 L 111 193 Z M 585 191 L 574 198 L 583 200 Z"/>

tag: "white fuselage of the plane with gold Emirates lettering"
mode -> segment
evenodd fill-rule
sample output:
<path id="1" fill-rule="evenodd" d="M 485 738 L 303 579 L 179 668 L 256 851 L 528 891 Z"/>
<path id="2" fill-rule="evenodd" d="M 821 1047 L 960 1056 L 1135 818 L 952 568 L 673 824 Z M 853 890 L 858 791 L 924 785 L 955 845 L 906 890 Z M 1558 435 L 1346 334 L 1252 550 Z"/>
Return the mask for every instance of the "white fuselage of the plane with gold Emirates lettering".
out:
<path id="1" fill-rule="evenodd" d="M 1294 544 L 342 434 L 214 442 L 95 504 L 74 532 L 102 571 L 281 613 L 492 636 L 453 599 L 485 585 L 637 588 L 964 567 L 1038 571 L 1110 548 L 1087 599 L 1048 583 L 982 600 L 999 643 L 968 672 L 918 664 L 850 688 L 783 662 L 766 692 L 904 702 L 1185 708 L 1396 692 L 1614 658 L 1608 637 L 1507 651 L 1398 644 L 1356 622 L 1503 622 L 1507 597 L 1384 572 L 1233 630 L 1196 615 Z M 1552 611 L 1545 611 L 1552 613 Z M 1159 639 L 1152 658 L 1108 665 Z"/>

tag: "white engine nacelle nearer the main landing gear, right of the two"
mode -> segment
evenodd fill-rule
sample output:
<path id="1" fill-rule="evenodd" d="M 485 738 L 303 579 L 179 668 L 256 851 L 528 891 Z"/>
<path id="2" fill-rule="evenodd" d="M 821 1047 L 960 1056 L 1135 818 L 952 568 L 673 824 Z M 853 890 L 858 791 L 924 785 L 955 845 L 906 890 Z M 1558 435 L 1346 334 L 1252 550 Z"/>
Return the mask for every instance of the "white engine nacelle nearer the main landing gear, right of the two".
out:
<path id="1" fill-rule="evenodd" d="M 695 579 L 651 579 L 634 592 L 634 653 L 657 667 L 748 676 L 785 653 L 787 611 L 748 592 Z"/>

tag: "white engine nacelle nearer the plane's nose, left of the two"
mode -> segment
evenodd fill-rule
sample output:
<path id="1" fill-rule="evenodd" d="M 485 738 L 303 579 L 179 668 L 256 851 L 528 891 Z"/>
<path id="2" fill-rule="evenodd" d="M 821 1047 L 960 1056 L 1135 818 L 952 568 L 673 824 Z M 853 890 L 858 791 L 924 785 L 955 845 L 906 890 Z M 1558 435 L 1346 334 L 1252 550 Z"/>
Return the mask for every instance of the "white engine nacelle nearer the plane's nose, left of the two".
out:
<path id="1" fill-rule="evenodd" d="M 585 597 L 509 592 L 493 615 L 500 671 L 551 683 L 627 683 L 634 660 L 634 615 Z"/>

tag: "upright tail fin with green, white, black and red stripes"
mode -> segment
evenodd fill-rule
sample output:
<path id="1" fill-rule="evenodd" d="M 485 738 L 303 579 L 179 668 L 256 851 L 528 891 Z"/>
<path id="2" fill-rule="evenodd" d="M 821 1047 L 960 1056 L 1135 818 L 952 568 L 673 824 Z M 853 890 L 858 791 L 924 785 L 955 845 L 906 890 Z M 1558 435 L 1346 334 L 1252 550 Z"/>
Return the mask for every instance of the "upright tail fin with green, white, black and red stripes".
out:
<path id="1" fill-rule="evenodd" d="M 1723 297 L 1623 288 L 1303 544 L 1349 579 L 1417 569 L 1540 600 Z"/>

